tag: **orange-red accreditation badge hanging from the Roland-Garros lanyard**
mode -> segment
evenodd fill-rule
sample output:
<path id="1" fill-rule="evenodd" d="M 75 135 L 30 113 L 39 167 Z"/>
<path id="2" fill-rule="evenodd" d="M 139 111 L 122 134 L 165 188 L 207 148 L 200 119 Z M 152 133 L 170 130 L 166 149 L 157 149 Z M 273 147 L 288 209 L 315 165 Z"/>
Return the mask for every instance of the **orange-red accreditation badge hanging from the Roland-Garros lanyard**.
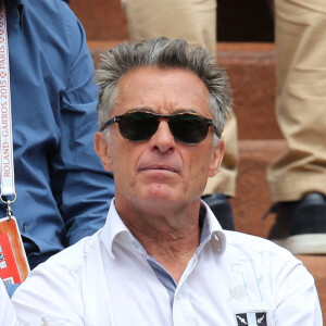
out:
<path id="1" fill-rule="evenodd" d="M 0 218 L 0 278 L 4 284 L 18 284 L 25 280 L 28 273 L 29 265 L 16 218 Z"/>

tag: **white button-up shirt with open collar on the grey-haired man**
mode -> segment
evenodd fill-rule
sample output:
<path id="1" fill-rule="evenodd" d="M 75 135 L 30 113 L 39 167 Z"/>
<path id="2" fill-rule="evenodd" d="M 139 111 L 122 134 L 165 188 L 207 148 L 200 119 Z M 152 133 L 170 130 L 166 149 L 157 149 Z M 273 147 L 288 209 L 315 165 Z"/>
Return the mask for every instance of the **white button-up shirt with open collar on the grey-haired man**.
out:
<path id="1" fill-rule="evenodd" d="M 210 209 L 178 284 L 112 201 L 105 226 L 35 268 L 13 296 L 20 322 L 87 326 L 318 326 L 314 279 L 268 240 L 222 230 Z M 55 324 L 55 325 L 57 325 Z"/>

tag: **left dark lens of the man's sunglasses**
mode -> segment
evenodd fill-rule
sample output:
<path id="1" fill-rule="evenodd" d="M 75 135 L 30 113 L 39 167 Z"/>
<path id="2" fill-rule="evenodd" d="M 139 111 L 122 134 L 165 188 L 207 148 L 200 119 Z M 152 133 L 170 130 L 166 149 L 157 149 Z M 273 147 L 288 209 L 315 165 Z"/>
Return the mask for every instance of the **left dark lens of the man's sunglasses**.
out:
<path id="1" fill-rule="evenodd" d="M 158 126 L 158 117 L 146 112 L 127 113 L 118 122 L 120 133 L 130 141 L 141 141 L 151 138 L 155 134 Z"/>

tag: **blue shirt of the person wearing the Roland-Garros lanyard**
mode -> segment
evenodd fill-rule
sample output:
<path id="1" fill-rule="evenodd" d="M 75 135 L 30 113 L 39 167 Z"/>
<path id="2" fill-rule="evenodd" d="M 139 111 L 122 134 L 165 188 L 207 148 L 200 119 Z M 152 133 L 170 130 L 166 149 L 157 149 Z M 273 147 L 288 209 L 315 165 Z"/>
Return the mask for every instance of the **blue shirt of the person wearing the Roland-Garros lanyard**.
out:
<path id="1" fill-rule="evenodd" d="M 8 0 L 13 214 L 30 267 L 105 222 L 111 174 L 93 149 L 97 89 L 85 32 L 61 0 Z M 5 216 L 5 204 L 1 204 Z"/>

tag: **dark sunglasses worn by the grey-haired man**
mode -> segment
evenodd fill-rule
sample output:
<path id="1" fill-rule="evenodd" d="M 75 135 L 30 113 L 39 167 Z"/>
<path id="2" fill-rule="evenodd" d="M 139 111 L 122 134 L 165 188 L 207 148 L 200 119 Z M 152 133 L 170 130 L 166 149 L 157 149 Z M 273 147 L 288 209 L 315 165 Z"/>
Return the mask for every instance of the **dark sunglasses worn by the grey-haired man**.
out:
<path id="1" fill-rule="evenodd" d="M 121 135 L 129 141 L 150 139 L 158 130 L 160 120 L 167 120 L 171 134 L 176 140 L 193 145 L 206 138 L 210 126 L 215 134 L 217 129 L 213 121 L 192 112 L 175 114 L 156 114 L 148 111 L 130 111 L 109 120 L 100 129 L 117 123 Z"/>

